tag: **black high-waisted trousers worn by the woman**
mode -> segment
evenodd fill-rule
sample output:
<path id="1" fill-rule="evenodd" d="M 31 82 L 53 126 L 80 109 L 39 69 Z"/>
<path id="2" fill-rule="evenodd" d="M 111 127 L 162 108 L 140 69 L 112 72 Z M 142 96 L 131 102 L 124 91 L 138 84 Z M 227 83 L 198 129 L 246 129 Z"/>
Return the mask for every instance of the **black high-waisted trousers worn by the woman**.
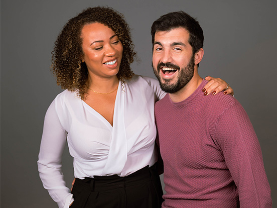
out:
<path id="1" fill-rule="evenodd" d="M 70 208 L 161 208 L 163 190 L 156 165 L 126 177 L 94 176 L 73 185 Z"/>

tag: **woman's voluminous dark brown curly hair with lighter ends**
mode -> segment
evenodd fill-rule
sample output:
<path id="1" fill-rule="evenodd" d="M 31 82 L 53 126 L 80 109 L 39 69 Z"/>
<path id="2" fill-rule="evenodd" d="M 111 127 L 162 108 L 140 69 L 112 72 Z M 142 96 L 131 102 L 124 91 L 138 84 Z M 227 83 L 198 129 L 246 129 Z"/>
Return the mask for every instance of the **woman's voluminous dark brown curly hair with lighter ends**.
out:
<path id="1" fill-rule="evenodd" d="M 76 90 L 80 98 L 84 99 L 88 87 L 88 69 L 82 62 L 81 30 L 84 25 L 95 22 L 109 27 L 122 43 L 123 54 L 117 73 L 118 79 L 124 82 L 133 76 L 130 63 L 133 62 L 136 53 L 133 51 L 129 27 L 123 18 L 122 14 L 112 8 L 94 7 L 84 10 L 68 21 L 52 51 L 52 70 L 57 77 L 58 85 L 70 91 Z"/>

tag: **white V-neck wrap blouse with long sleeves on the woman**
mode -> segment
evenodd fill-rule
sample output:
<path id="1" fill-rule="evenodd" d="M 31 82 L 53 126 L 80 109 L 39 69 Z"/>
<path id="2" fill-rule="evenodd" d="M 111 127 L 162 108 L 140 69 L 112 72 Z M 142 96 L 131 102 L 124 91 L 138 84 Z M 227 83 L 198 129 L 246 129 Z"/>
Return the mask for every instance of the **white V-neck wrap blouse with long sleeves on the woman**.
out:
<path id="1" fill-rule="evenodd" d="M 61 171 L 66 141 L 76 178 L 123 177 L 154 165 L 154 105 L 164 95 L 153 78 L 134 75 L 123 84 L 119 81 L 113 126 L 75 92 L 57 95 L 45 116 L 38 168 L 44 187 L 59 207 L 69 207 L 74 200 Z"/>

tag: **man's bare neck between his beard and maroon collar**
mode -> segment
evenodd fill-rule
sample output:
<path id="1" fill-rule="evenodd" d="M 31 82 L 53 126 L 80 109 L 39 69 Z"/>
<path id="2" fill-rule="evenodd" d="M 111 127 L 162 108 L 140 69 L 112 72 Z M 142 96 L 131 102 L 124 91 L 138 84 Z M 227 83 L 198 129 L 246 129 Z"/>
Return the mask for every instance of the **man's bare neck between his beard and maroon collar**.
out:
<path id="1" fill-rule="evenodd" d="M 187 99 L 201 84 L 202 78 L 198 73 L 194 74 L 192 79 L 178 92 L 169 93 L 169 96 L 173 102 L 181 102 Z"/>

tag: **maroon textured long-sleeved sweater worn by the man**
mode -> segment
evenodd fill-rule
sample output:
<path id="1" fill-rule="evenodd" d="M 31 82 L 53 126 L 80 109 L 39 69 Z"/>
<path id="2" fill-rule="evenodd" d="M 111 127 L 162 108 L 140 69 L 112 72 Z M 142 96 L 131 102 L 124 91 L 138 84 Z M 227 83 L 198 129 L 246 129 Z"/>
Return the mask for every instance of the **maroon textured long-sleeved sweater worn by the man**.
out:
<path id="1" fill-rule="evenodd" d="M 204 96 L 206 83 L 181 102 L 169 94 L 156 102 L 162 207 L 271 207 L 261 149 L 246 112 L 230 95 Z"/>

